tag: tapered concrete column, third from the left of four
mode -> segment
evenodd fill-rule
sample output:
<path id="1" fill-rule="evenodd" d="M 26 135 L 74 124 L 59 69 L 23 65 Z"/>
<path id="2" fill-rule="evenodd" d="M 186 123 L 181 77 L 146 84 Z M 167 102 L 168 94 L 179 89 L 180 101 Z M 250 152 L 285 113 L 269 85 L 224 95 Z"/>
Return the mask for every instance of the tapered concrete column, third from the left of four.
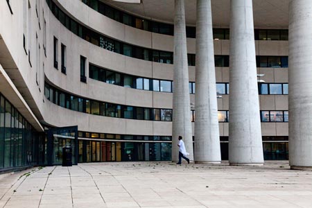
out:
<path id="1" fill-rule="evenodd" d="M 252 0 L 230 10 L 229 164 L 263 165 Z"/>

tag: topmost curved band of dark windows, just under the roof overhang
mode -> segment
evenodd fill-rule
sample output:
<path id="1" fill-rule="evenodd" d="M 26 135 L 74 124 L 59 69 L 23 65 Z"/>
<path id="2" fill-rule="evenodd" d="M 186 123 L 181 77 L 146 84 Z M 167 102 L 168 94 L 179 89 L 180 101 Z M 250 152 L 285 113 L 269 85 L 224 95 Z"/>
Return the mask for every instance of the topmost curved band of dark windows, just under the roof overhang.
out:
<path id="1" fill-rule="evenodd" d="M 97 12 L 100 12 L 102 15 L 119 21 L 122 24 L 153 33 L 160 33 L 164 35 L 174 34 L 173 24 L 166 24 L 130 15 L 121 10 L 117 10 L 116 8 L 112 8 L 112 6 L 109 6 L 99 0 L 83 0 L 83 3 L 87 4 L 87 6 Z M 196 37 L 195 27 L 187 26 L 186 32 L 187 37 Z M 229 40 L 228 28 L 214 28 L 213 33 L 215 40 Z M 255 40 L 288 40 L 288 30 L 254 30 L 254 38 Z"/>

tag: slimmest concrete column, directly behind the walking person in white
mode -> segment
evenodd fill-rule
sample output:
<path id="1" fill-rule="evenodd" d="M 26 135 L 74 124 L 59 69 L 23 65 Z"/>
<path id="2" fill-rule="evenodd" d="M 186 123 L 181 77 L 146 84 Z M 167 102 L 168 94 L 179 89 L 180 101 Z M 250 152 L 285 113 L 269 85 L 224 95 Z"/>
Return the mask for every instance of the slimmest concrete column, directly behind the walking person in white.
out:
<path id="1" fill-rule="evenodd" d="M 177 161 L 178 159 L 179 148 L 177 147 L 177 138 L 179 135 L 183 137 L 187 152 L 190 153 L 189 159 L 193 160 L 184 0 L 175 0 L 174 31 L 172 160 Z"/>

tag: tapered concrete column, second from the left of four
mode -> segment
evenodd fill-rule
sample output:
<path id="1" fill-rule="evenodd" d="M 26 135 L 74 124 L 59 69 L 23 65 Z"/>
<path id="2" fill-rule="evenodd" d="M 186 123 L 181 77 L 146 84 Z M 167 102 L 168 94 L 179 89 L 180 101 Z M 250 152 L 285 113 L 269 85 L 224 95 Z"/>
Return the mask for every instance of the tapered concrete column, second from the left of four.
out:
<path id="1" fill-rule="evenodd" d="M 196 6 L 194 160 L 196 163 L 220 163 L 221 153 L 211 1 L 197 0 Z"/>

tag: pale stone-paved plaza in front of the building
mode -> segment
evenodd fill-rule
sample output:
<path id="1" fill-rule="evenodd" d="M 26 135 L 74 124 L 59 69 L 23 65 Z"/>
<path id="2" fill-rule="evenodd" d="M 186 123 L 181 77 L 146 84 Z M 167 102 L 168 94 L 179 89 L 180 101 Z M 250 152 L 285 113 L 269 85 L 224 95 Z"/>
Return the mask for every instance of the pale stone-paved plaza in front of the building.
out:
<path id="1" fill-rule="evenodd" d="M 172 162 L 89 163 L 0 175 L 0 207 L 312 207 L 312 172 Z"/>

